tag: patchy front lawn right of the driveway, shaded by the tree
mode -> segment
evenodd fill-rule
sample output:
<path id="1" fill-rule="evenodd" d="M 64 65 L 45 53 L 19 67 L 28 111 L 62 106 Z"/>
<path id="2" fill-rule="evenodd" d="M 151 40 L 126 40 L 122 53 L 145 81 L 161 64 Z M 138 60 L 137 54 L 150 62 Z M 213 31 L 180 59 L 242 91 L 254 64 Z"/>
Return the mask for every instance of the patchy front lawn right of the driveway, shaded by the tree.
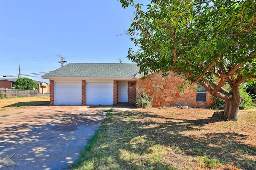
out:
<path id="1" fill-rule="evenodd" d="M 108 111 L 73 170 L 256 170 L 256 110 L 238 121 L 214 110 L 152 108 Z"/>

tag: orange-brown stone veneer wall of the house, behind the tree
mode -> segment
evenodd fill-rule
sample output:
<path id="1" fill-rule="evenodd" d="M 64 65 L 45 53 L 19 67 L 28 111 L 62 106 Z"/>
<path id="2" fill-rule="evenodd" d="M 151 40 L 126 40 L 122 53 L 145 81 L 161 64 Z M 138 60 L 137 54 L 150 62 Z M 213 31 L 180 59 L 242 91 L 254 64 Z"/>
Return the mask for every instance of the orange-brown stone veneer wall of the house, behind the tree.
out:
<path id="1" fill-rule="evenodd" d="M 207 102 L 196 102 L 196 91 L 193 89 L 196 84 L 190 88 L 184 89 L 180 93 L 177 85 L 185 82 L 184 78 L 169 74 L 163 77 L 162 73 L 152 73 L 144 80 L 137 80 L 137 88 L 144 88 L 150 98 L 154 96 L 153 107 L 160 106 L 189 106 L 189 107 L 211 107 L 214 100 L 210 99 L 210 93 L 206 94 Z"/>

